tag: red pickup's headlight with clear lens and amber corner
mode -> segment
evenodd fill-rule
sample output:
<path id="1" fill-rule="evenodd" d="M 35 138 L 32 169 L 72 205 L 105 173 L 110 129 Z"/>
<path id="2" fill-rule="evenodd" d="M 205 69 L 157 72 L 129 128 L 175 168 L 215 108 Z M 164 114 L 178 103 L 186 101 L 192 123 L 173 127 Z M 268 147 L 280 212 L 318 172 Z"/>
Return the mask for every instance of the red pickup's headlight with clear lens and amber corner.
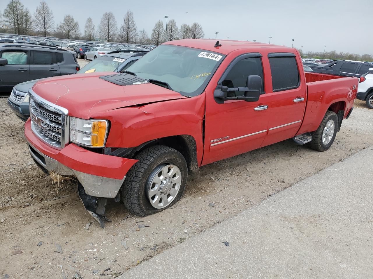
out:
<path id="1" fill-rule="evenodd" d="M 70 117 L 70 141 L 88 147 L 104 147 L 107 120 L 86 120 Z"/>

